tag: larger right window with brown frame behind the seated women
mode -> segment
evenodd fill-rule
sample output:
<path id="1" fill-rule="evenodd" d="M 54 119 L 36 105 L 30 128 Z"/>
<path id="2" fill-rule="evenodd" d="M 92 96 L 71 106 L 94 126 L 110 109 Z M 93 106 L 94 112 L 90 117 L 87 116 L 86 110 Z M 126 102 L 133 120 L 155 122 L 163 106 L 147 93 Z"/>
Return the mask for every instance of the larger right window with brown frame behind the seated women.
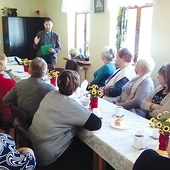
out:
<path id="1" fill-rule="evenodd" d="M 152 9 L 152 4 L 128 9 L 127 37 L 123 46 L 134 52 L 134 61 L 150 55 Z"/>

